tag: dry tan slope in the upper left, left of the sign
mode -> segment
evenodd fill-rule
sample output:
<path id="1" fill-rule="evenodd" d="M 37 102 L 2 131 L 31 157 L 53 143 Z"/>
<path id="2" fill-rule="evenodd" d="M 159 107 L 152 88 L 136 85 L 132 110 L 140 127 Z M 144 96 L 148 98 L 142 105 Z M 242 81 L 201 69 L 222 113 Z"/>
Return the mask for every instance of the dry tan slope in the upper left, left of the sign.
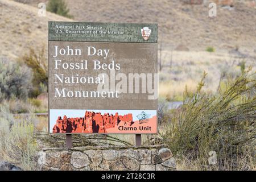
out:
<path id="1" fill-rule="evenodd" d="M 52 13 L 38 16 L 38 9 L 14 1 L 0 0 L 0 57 L 15 60 L 29 48 L 47 48 L 48 21 L 70 21 Z"/>

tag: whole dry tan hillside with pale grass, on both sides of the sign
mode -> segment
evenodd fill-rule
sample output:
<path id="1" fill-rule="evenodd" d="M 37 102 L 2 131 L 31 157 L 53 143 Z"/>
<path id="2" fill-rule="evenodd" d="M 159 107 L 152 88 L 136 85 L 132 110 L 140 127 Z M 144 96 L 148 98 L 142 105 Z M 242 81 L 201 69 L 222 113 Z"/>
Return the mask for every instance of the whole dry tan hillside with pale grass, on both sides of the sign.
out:
<path id="1" fill-rule="evenodd" d="M 208 72 L 206 88 L 214 91 L 221 75 L 240 72 L 243 61 L 255 69 L 256 6 L 250 0 L 234 0 L 232 7 L 218 5 L 217 17 L 212 18 L 207 3 L 65 1 L 77 21 L 158 23 L 160 95 L 170 100 L 181 100 L 185 85 L 195 88 L 203 71 Z M 1 57 L 16 59 L 30 47 L 47 49 L 48 20 L 71 20 L 48 12 L 38 16 L 38 3 L 47 0 L 20 2 L 24 3 L 0 0 Z M 214 52 L 205 51 L 207 47 Z"/>

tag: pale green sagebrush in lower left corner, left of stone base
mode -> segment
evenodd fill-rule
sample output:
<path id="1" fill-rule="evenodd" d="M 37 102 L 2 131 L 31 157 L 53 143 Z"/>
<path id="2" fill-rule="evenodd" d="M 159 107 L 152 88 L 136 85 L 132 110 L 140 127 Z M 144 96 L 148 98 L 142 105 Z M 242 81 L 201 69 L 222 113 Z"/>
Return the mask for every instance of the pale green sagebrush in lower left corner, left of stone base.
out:
<path id="1" fill-rule="evenodd" d="M 35 117 L 15 118 L 9 107 L 0 108 L 0 154 L 23 170 L 36 167 L 38 144 L 33 138 Z"/>

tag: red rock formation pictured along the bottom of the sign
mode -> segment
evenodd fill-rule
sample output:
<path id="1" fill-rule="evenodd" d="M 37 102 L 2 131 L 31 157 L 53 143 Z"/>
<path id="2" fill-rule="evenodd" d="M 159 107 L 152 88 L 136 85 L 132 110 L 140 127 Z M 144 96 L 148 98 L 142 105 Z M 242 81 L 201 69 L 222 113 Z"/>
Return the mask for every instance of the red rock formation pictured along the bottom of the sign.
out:
<path id="1" fill-rule="evenodd" d="M 133 124 L 133 114 L 118 115 L 94 113 L 85 111 L 84 118 L 67 118 L 59 116 L 53 126 L 53 133 L 106 133 L 106 129 L 118 126 L 119 122 L 125 122 L 127 126 Z"/>

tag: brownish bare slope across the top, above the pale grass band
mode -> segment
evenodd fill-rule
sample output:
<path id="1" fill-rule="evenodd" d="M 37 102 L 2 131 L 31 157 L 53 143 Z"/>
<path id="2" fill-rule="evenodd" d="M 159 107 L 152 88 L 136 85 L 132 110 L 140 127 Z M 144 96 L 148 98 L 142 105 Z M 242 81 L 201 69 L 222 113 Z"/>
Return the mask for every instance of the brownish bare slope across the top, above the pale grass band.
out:
<path id="1" fill-rule="evenodd" d="M 214 18 L 208 16 L 207 4 L 192 6 L 177 0 L 75 0 L 67 4 L 79 21 L 158 23 L 162 42 L 185 44 L 190 50 L 256 48 L 256 9 L 246 3 L 235 1 L 231 9 L 217 6 Z"/>

